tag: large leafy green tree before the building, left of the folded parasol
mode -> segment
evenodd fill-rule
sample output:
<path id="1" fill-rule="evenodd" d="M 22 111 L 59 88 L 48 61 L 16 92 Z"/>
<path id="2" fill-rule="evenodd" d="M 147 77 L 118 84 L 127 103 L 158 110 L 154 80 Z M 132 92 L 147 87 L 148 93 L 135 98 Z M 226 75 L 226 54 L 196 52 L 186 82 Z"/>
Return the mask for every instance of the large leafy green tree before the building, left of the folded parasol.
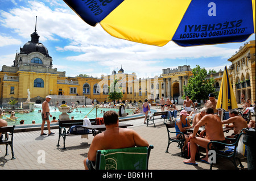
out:
<path id="1" fill-rule="evenodd" d="M 185 96 L 188 95 L 192 100 L 208 99 L 209 93 L 215 93 L 213 86 L 214 79 L 206 79 L 207 70 L 204 68 L 201 69 L 199 65 L 192 70 L 192 73 L 193 77 L 190 77 L 188 79 L 188 85 L 184 86 L 185 94 L 182 98 L 185 99 Z"/>

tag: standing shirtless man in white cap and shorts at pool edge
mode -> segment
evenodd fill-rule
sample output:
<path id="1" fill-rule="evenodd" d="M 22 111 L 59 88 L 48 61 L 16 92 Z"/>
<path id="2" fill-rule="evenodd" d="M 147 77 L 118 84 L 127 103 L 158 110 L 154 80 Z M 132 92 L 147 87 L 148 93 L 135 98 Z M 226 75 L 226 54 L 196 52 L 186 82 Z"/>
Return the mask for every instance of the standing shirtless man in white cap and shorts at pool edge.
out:
<path id="1" fill-rule="evenodd" d="M 53 135 L 54 133 L 51 132 L 50 127 L 50 121 L 49 116 L 52 117 L 52 115 L 49 113 L 49 101 L 51 100 L 51 96 L 47 95 L 46 100 L 44 100 L 42 104 L 42 125 L 41 125 L 41 136 L 47 135 L 44 133 L 44 124 L 47 122 L 47 128 L 48 128 L 48 136 Z"/>

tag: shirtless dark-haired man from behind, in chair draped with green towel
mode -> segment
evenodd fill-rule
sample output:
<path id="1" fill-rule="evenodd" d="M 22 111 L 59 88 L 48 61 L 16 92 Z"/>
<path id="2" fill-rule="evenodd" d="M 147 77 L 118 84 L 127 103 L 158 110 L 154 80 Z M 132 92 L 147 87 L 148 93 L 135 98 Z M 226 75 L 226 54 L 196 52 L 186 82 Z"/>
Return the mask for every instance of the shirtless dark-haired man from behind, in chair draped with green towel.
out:
<path id="1" fill-rule="evenodd" d="M 93 169 L 92 162 L 96 161 L 97 150 L 130 148 L 134 146 L 149 146 L 139 134 L 129 128 L 118 128 L 118 114 L 115 111 L 104 113 L 106 131 L 97 134 L 90 144 L 88 158 L 84 159 L 85 169 Z"/>

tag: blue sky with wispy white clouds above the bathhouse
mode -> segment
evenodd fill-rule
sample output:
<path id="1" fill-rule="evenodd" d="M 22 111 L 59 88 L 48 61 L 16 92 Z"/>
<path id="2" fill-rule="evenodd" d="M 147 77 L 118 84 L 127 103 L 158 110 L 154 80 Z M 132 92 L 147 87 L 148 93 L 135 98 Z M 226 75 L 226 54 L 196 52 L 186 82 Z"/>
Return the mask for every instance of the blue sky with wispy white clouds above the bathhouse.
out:
<path id="1" fill-rule="evenodd" d="M 122 68 L 139 78 L 162 74 L 162 69 L 200 65 L 207 70 L 224 70 L 225 65 L 243 43 L 179 47 L 169 42 L 164 47 L 117 39 L 97 24 L 91 27 L 62 0 L 0 0 L 0 70 L 11 66 L 16 51 L 31 40 L 38 16 L 39 42 L 48 49 L 53 68 L 66 76 L 88 74 L 100 77 Z"/>

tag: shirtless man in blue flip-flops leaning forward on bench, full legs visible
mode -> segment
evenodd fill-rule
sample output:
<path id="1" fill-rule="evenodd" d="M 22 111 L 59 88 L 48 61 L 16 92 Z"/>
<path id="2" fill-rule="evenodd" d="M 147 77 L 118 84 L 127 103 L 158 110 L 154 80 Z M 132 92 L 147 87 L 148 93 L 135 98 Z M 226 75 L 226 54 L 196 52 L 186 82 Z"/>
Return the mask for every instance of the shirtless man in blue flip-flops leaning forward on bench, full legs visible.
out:
<path id="1" fill-rule="evenodd" d="M 197 166 L 196 163 L 196 149 L 197 145 L 202 146 L 206 149 L 206 157 L 203 158 L 204 161 L 208 162 L 208 149 L 207 145 L 210 141 L 218 141 L 225 143 L 225 136 L 223 133 L 222 123 L 218 115 L 214 115 L 213 108 L 208 107 L 205 110 L 206 115 L 196 124 L 193 134 L 190 134 L 190 153 L 191 158 L 184 160 L 183 163 L 187 165 Z M 196 137 L 196 133 L 199 130 L 199 127 L 205 125 L 205 130 L 200 133 L 200 137 Z M 205 133 L 205 137 L 203 137 Z M 217 149 L 223 149 L 221 146 L 218 146 Z"/>

